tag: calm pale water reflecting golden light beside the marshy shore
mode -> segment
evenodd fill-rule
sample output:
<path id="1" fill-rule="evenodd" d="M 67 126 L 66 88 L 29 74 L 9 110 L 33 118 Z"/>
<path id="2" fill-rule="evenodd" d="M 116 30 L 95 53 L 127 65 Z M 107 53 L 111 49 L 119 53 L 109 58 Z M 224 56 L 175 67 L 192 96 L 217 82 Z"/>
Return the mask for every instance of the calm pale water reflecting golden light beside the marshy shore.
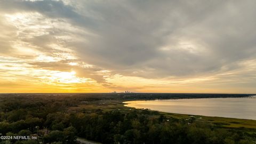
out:
<path id="1" fill-rule="evenodd" d="M 256 98 L 211 98 L 126 101 L 125 106 L 167 113 L 256 120 Z"/>

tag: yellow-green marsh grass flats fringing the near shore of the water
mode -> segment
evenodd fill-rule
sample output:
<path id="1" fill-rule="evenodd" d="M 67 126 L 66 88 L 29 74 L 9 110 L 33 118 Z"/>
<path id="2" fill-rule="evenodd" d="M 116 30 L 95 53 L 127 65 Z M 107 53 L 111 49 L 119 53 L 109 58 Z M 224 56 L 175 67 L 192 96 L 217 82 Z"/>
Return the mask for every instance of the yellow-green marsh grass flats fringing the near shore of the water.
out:
<path id="1" fill-rule="evenodd" d="M 70 111 L 97 111 L 102 110 L 102 112 L 111 111 L 111 110 L 122 110 L 129 111 L 134 108 L 125 107 L 124 101 L 127 100 L 98 100 L 90 102 L 82 102 L 78 107 L 70 107 Z M 173 113 L 164 113 L 155 111 L 157 114 L 165 115 L 166 117 L 174 117 L 177 119 L 188 119 L 191 118 L 191 115 L 185 114 L 173 114 Z M 224 128 L 237 128 L 237 129 L 255 129 L 256 130 L 256 121 L 249 119 L 237 119 L 237 118 L 224 118 L 224 117 L 210 117 L 210 116 L 196 116 L 193 115 L 196 121 L 201 121 L 205 123 L 211 123 L 218 127 Z"/>

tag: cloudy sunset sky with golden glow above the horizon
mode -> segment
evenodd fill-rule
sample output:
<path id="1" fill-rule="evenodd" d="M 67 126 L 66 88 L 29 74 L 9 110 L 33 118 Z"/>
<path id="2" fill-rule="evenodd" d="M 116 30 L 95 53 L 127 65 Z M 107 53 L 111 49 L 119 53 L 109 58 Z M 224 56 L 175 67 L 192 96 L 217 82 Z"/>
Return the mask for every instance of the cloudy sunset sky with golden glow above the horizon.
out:
<path id="1" fill-rule="evenodd" d="M 0 93 L 256 93 L 255 1 L 0 1 Z"/>

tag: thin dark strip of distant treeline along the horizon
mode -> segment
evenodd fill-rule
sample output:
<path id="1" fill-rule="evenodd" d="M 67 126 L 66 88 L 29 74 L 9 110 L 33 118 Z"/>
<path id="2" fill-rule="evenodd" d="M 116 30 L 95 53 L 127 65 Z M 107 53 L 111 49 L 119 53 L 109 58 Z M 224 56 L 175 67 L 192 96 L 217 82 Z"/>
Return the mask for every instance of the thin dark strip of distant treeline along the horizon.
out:
<path id="1" fill-rule="evenodd" d="M 250 97 L 255 94 L 218 94 L 218 93 L 12 93 L 12 94 L 0 94 L 0 97 L 4 96 L 12 97 L 72 97 L 79 99 L 80 101 L 86 100 L 106 100 L 106 99 L 135 99 L 135 100 L 150 100 L 150 99 L 191 99 L 191 98 L 242 98 Z"/>

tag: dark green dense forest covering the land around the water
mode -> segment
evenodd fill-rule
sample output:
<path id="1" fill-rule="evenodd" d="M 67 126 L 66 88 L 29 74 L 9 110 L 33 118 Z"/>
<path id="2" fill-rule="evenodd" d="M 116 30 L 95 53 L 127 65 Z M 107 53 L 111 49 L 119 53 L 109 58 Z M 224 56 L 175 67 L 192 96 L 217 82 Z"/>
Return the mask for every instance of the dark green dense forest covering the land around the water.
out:
<path id="1" fill-rule="evenodd" d="M 223 128 L 196 117 L 177 118 L 123 107 L 124 100 L 247 97 L 246 94 L 1 94 L 0 143 L 256 143 L 255 129 Z M 255 121 L 256 122 L 256 121 Z"/>

